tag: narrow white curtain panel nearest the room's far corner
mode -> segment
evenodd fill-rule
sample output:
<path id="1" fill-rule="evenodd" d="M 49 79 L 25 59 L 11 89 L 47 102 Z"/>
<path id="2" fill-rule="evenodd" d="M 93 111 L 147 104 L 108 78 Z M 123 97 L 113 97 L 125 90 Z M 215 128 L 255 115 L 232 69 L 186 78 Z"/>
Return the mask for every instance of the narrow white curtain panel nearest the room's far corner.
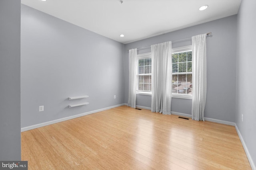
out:
<path id="1" fill-rule="evenodd" d="M 136 107 L 136 90 L 137 78 L 136 71 L 138 69 L 137 63 L 137 49 L 129 50 L 129 89 L 128 89 L 128 106 Z"/>

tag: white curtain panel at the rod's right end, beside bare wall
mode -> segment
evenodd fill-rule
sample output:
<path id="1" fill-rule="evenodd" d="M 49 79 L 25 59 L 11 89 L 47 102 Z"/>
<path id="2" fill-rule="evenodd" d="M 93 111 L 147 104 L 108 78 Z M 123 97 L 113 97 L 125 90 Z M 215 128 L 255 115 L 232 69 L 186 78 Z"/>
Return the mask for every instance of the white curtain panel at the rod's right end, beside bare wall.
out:
<path id="1" fill-rule="evenodd" d="M 192 37 L 192 119 L 204 121 L 206 104 L 206 34 Z"/>

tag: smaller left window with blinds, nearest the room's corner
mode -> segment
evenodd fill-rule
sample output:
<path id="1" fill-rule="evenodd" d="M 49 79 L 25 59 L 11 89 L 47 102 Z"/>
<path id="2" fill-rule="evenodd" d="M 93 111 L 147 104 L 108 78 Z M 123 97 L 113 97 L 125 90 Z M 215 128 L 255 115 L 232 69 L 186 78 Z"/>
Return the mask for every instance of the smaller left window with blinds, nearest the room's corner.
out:
<path id="1" fill-rule="evenodd" d="M 137 94 L 151 94 L 151 54 L 138 55 Z"/>

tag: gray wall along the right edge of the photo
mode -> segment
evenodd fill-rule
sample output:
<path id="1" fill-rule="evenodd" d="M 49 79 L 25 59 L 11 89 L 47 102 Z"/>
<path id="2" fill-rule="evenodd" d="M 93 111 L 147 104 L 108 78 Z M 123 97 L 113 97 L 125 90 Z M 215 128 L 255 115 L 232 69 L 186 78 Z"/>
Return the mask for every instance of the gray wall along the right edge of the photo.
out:
<path id="1" fill-rule="evenodd" d="M 256 1 L 242 0 L 237 18 L 236 125 L 256 165 Z M 243 121 L 242 121 L 243 114 Z"/>

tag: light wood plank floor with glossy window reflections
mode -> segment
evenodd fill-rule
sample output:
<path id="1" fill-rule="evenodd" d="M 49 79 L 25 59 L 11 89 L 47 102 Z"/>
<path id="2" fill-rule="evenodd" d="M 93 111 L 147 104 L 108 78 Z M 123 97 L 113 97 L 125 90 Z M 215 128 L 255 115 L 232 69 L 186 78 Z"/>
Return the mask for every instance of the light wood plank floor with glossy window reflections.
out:
<path id="1" fill-rule="evenodd" d="M 127 106 L 21 136 L 30 170 L 251 170 L 235 127 Z"/>

